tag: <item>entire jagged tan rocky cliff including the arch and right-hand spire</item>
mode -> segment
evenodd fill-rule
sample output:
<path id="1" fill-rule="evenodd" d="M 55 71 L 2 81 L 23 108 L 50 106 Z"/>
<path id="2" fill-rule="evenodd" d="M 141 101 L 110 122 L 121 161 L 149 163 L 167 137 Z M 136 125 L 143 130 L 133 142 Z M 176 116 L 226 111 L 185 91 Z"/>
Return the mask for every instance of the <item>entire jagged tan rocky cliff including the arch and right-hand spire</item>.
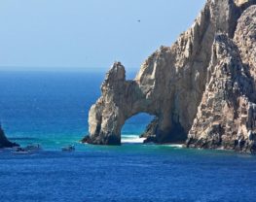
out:
<path id="1" fill-rule="evenodd" d="M 208 0 L 192 27 L 149 56 L 133 81 L 114 63 L 91 106 L 84 141 L 120 145 L 125 121 L 143 112 L 156 117 L 144 134 L 147 141 L 253 148 L 255 5 L 256 0 Z"/>

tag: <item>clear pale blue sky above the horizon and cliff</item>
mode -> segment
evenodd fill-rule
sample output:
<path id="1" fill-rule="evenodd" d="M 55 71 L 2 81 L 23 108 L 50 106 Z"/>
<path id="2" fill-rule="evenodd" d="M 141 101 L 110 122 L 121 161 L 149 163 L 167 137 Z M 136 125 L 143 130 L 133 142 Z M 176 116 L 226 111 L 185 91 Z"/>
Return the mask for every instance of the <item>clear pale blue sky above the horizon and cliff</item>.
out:
<path id="1" fill-rule="evenodd" d="M 191 26 L 205 0 L 0 0 L 0 70 L 127 68 Z"/>

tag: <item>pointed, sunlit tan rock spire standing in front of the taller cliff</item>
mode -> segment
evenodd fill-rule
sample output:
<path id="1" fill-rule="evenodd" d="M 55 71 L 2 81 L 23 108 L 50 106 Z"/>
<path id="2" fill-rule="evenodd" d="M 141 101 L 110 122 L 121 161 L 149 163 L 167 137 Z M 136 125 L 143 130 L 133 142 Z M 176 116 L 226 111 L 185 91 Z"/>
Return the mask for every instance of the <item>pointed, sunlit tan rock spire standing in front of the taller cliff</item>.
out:
<path id="1" fill-rule="evenodd" d="M 248 124 L 253 84 L 234 42 L 226 35 L 216 36 L 206 88 L 189 132 L 188 146 L 233 149 L 236 141 L 248 140 L 249 130 L 255 127 Z"/>

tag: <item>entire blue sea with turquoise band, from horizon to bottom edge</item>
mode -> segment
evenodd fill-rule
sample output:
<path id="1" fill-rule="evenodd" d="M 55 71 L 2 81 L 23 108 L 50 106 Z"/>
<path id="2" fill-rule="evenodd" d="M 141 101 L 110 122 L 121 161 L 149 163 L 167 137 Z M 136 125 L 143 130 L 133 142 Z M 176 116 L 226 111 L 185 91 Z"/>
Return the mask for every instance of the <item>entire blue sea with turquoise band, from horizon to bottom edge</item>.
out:
<path id="1" fill-rule="evenodd" d="M 134 73 L 129 73 L 132 78 Z M 256 201 L 256 156 L 142 145 L 151 117 L 128 119 L 121 147 L 79 143 L 104 73 L 0 72 L 8 137 L 43 150 L 0 151 L 0 202 Z M 74 144 L 76 152 L 61 152 Z"/>

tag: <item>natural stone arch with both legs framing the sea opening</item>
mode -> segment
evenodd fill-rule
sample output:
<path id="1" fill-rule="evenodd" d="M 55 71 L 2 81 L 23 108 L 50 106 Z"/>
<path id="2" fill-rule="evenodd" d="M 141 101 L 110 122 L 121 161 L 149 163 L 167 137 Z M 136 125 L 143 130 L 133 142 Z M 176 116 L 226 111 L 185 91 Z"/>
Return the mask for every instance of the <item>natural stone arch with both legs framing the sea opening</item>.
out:
<path id="1" fill-rule="evenodd" d="M 163 99 L 165 93 L 153 94 L 153 90 L 154 88 L 150 89 L 150 86 L 141 85 L 136 80 L 126 81 L 125 67 L 120 62 L 114 63 L 101 85 L 102 96 L 91 106 L 91 136 L 84 139 L 84 142 L 120 145 L 123 125 L 128 118 L 138 113 L 146 113 L 157 118 L 155 142 L 176 141 L 180 139 L 176 138 L 178 136 L 185 141 L 187 131 L 183 129 L 184 125 L 181 125 L 179 116 L 171 112 L 174 101 Z M 165 105 L 165 108 L 162 105 Z M 178 136 L 170 136 L 175 132 Z"/>

